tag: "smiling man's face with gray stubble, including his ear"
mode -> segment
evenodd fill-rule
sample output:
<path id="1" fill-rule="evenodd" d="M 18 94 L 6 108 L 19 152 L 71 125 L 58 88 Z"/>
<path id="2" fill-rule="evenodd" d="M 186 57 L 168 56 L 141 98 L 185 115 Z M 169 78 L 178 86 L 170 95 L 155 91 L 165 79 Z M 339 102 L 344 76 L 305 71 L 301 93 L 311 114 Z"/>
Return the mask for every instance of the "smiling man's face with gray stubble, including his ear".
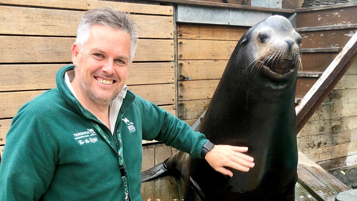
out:
<path id="1" fill-rule="evenodd" d="M 121 30 L 93 25 L 83 48 L 72 46 L 75 78 L 84 98 L 109 106 L 124 86 L 130 67 L 130 35 Z"/>

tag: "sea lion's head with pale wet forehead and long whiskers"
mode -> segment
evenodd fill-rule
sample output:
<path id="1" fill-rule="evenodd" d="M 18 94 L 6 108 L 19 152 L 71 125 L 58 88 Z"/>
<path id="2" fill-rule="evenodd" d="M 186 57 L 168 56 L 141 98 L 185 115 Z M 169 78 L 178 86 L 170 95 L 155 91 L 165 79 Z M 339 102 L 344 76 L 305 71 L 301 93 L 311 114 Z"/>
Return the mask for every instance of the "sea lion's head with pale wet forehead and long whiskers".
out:
<path id="1" fill-rule="evenodd" d="M 288 19 L 271 16 L 259 22 L 242 36 L 236 48 L 238 58 L 245 58 L 243 74 L 260 73 L 273 82 L 296 77 L 301 67 L 300 44 L 301 36 Z"/>

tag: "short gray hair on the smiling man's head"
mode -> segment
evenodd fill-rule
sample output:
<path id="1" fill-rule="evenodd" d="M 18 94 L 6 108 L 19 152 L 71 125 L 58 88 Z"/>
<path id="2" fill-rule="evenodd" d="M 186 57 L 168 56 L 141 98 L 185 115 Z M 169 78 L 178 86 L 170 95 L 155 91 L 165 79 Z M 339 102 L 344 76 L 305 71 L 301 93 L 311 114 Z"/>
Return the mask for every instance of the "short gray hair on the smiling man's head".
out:
<path id="1" fill-rule="evenodd" d="M 130 62 L 133 61 L 138 42 L 137 24 L 129 17 L 128 13 L 115 11 L 110 8 L 94 9 L 85 12 L 77 29 L 76 44 L 81 50 L 90 37 L 93 25 L 108 26 L 116 30 L 122 30 L 130 35 Z"/>

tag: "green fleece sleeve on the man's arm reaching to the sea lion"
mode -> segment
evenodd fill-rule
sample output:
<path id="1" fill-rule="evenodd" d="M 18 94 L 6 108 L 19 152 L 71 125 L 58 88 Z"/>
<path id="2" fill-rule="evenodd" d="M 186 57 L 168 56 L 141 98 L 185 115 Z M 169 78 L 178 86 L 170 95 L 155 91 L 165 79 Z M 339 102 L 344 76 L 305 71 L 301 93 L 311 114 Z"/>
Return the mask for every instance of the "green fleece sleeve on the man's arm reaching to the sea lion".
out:
<path id="1" fill-rule="evenodd" d="M 201 158 L 202 147 L 208 140 L 202 133 L 193 131 L 186 122 L 150 102 L 145 103 L 141 117 L 144 140 L 162 141 L 193 158 Z"/>

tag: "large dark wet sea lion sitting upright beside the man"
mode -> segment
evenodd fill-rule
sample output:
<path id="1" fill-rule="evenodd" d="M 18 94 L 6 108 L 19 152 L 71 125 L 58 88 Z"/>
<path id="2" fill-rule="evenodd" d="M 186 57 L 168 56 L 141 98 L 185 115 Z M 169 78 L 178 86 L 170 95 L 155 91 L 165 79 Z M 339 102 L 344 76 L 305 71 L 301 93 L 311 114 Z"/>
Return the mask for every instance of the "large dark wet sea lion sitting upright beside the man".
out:
<path id="1" fill-rule="evenodd" d="M 177 152 L 142 180 L 179 171 L 184 199 L 294 200 L 297 181 L 295 90 L 301 36 L 282 16 L 251 27 L 235 47 L 199 131 L 214 144 L 247 146 L 255 166 L 233 177 Z"/>

